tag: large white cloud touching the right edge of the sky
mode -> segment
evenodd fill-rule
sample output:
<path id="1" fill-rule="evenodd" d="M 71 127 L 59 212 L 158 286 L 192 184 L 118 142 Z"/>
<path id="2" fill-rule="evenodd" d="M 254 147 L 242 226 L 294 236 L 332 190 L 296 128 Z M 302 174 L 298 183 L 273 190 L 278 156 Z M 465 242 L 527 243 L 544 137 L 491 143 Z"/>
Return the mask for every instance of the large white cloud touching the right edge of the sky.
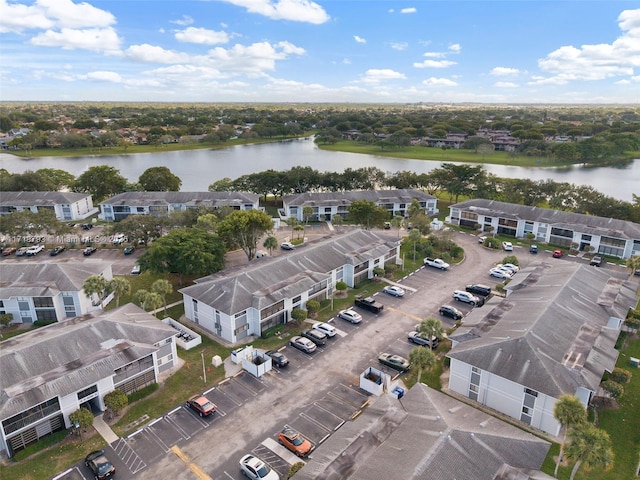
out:
<path id="1" fill-rule="evenodd" d="M 640 67 L 640 9 L 623 11 L 618 26 L 622 35 L 611 44 L 562 46 L 538 60 L 540 69 L 551 77 L 535 83 L 563 85 L 633 75 L 634 67 Z"/>

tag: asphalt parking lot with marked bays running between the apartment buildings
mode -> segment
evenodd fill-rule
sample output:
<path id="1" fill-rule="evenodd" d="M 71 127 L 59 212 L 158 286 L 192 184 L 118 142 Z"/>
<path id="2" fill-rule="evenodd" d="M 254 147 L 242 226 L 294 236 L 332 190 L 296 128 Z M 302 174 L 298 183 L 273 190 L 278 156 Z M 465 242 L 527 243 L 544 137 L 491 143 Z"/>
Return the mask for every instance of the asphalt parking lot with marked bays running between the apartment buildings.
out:
<path id="1" fill-rule="evenodd" d="M 491 287 L 498 283 L 488 270 L 500 262 L 504 252 L 483 248 L 475 237 L 465 234 L 457 234 L 456 242 L 465 248 L 461 264 L 449 271 L 420 268 L 406 272 L 398 282 L 406 291 L 404 297 L 375 294 L 384 310 L 377 315 L 358 310 L 362 322 L 357 325 L 337 317 L 330 319 L 337 335 L 315 353 L 304 353 L 287 343 L 281 351 L 289 358 L 288 367 L 274 368 L 259 379 L 241 372 L 204 392 L 218 407 L 212 417 L 201 418 L 179 405 L 115 442 L 110 448 L 119 471 L 128 470 L 128 476 L 135 478 L 187 479 L 194 478 L 195 465 L 211 478 L 240 479 L 238 461 L 253 453 L 286 477 L 290 466 L 300 459 L 278 443 L 278 432 L 289 426 L 314 446 L 320 445 L 366 408 L 368 394 L 358 387 L 362 371 L 374 366 L 399 375 L 378 363 L 380 353 L 408 357 L 415 345 L 407 340 L 407 333 L 416 323 L 427 317 L 440 318 L 445 328 L 455 323 L 439 316 L 442 304 L 455 306 L 463 314 L 471 311 L 471 306 L 453 300 L 453 290 L 464 290 L 471 283 Z M 521 266 L 540 260 L 582 261 L 552 259 L 547 252 L 531 255 L 518 247 L 513 253 Z M 171 453 L 175 446 L 180 456 Z"/>

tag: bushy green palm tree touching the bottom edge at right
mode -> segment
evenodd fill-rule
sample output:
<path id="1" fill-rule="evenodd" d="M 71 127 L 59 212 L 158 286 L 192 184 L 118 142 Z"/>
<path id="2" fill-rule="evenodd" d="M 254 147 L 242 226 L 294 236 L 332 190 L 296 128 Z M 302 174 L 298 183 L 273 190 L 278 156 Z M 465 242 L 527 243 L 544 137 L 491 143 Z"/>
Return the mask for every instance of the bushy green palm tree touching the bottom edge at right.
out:
<path id="1" fill-rule="evenodd" d="M 567 457 L 575 460 L 576 463 L 571 470 L 569 480 L 573 480 L 583 463 L 587 469 L 598 465 L 605 469 L 613 466 L 613 450 L 607 432 L 588 423 L 583 423 L 573 428 L 570 436 L 571 442 L 566 448 Z"/>

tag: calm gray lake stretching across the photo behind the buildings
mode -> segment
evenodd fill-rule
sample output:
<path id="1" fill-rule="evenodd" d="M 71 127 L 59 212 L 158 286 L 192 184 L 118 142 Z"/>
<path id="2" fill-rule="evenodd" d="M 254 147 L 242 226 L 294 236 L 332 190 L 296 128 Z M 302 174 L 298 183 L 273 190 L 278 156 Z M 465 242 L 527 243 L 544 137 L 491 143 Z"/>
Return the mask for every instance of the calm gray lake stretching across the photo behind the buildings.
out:
<path id="1" fill-rule="evenodd" d="M 168 167 L 182 180 L 183 191 L 206 191 L 210 184 L 225 177 L 235 179 L 241 175 L 267 169 L 288 170 L 294 166 L 309 166 L 318 171 L 342 172 L 345 168 L 378 167 L 394 173 L 409 170 L 428 173 L 439 168 L 439 160 L 406 160 L 320 150 L 310 139 L 288 142 L 241 145 L 222 150 L 185 150 L 178 152 L 154 152 L 130 155 L 87 156 L 77 158 L 39 157 L 23 160 L 0 153 L 0 168 L 11 173 L 23 173 L 40 168 L 58 168 L 73 175 L 80 175 L 89 167 L 111 165 L 130 182 L 136 182 L 150 167 Z M 640 159 L 626 167 L 584 168 L 528 168 L 508 165 L 485 165 L 485 169 L 505 178 L 551 179 L 591 185 L 596 190 L 627 202 L 632 193 L 640 194 Z"/>

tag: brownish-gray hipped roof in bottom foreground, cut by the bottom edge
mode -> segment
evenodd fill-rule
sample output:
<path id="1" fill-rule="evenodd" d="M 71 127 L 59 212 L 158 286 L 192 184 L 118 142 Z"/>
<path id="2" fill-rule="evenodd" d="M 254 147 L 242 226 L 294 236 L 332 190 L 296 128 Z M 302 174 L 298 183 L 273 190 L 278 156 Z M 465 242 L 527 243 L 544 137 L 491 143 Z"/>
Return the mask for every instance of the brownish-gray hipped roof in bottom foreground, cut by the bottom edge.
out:
<path id="1" fill-rule="evenodd" d="M 538 475 L 549 446 L 418 383 L 402 399 L 383 395 L 346 422 L 296 478 L 493 480 L 505 465 Z"/>

